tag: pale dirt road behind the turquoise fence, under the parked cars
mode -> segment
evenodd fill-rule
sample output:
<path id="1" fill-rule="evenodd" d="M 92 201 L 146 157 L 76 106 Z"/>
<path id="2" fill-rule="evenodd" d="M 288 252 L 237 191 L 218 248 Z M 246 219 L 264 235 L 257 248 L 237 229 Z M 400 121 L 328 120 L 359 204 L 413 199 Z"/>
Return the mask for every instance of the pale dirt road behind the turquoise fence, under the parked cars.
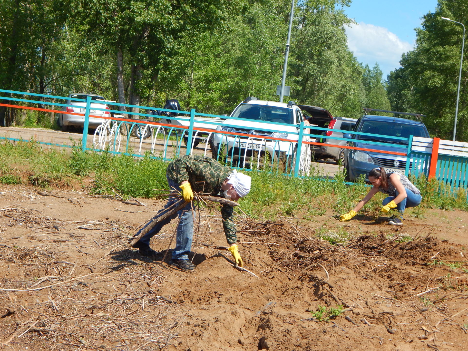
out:
<path id="1" fill-rule="evenodd" d="M 90 131 L 94 133 L 93 131 Z M 82 133 L 79 132 L 60 132 L 51 129 L 43 129 L 43 128 L 20 128 L 20 127 L 2 127 L 0 128 L 0 137 L 6 138 L 15 138 L 23 140 L 30 140 L 34 138 L 34 140 L 42 141 L 51 144 L 61 144 L 61 145 L 73 145 L 75 143 L 78 145 L 82 139 Z M 88 135 L 88 147 L 93 147 L 93 134 Z M 152 141 L 151 138 L 144 139 L 141 143 L 141 152 L 140 154 L 145 154 L 146 150 L 151 150 Z M 128 144 L 129 148 L 133 150 L 133 153 L 138 154 L 140 150 L 140 141 L 135 137 L 131 137 Z M 157 139 L 155 141 L 154 150 L 156 151 L 155 154 L 162 154 L 164 152 L 164 140 Z M 44 146 L 49 147 L 49 146 Z M 120 151 L 123 152 L 126 147 L 126 137 L 122 138 Z M 167 157 L 172 157 L 177 150 L 177 147 L 168 147 L 168 155 Z M 185 153 L 185 145 L 181 146 L 180 153 Z M 205 144 L 200 144 L 198 147 L 194 148 L 195 154 L 206 154 L 211 156 L 211 149 L 208 146 L 205 151 Z M 319 161 L 319 162 L 311 162 L 312 168 L 314 168 L 313 172 L 318 173 L 322 176 L 334 176 L 338 171 L 338 166 L 336 162 L 331 161 Z"/>

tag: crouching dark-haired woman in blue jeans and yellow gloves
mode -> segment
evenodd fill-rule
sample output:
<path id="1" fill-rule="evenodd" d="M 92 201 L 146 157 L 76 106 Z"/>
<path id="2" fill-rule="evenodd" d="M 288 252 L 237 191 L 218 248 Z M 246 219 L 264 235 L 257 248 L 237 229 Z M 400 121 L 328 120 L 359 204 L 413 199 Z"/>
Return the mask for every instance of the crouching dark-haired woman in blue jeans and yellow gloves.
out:
<path id="1" fill-rule="evenodd" d="M 373 187 L 353 210 L 340 216 L 340 221 L 347 221 L 353 218 L 379 191 L 388 194 L 388 197 L 382 200 L 383 213 L 387 213 L 396 207 L 397 214 L 388 218 L 388 224 L 394 226 L 401 226 L 403 224 L 402 220 L 405 208 L 416 207 L 421 203 L 421 191 L 402 174 L 394 172 L 385 173 L 385 169 L 380 167 L 371 170 L 368 179 Z"/>

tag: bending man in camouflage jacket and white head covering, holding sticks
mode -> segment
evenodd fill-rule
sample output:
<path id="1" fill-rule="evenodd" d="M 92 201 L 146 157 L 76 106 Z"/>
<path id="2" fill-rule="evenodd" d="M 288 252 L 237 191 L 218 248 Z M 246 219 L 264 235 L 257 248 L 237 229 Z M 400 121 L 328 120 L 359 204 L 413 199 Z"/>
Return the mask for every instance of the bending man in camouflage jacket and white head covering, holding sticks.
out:
<path id="1" fill-rule="evenodd" d="M 165 219 L 154 226 L 133 247 L 138 248 L 140 254 L 154 258 L 157 252 L 150 248 L 150 239 L 158 234 L 164 225 L 178 216 L 179 224 L 176 231 L 176 248 L 172 251 L 171 266 L 183 271 L 193 271 L 195 265 L 188 259 L 193 238 L 192 189 L 195 192 L 208 193 L 212 196 L 219 196 L 220 193 L 223 193 L 225 197 L 236 201 L 249 192 L 250 177 L 237 173 L 235 170 L 233 171 L 231 168 L 221 165 L 210 157 L 185 155 L 169 163 L 166 178 L 169 189 L 179 191 L 183 194 L 184 199 L 190 202 L 177 214 L 174 214 L 172 218 Z M 169 196 L 167 204 L 157 215 L 163 215 L 179 199 L 180 197 Z M 227 243 L 230 244 L 229 251 L 233 254 L 236 263 L 242 265 L 241 256 L 237 252 L 237 235 L 232 215 L 232 206 L 221 205 L 221 218 Z M 139 232 L 143 229 L 144 227 Z M 139 232 L 135 235 L 138 235 Z"/>

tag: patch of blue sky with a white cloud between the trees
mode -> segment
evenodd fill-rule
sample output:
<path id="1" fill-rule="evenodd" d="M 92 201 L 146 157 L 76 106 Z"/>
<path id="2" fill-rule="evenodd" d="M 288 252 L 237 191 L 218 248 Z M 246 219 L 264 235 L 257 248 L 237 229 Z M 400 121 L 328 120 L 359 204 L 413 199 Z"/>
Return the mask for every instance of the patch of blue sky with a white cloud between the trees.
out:
<path id="1" fill-rule="evenodd" d="M 400 67 L 403 52 L 413 48 L 421 17 L 433 12 L 437 0 L 353 0 L 344 9 L 358 23 L 346 29 L 348 46 L 359 62 L 384 73 Z"/>

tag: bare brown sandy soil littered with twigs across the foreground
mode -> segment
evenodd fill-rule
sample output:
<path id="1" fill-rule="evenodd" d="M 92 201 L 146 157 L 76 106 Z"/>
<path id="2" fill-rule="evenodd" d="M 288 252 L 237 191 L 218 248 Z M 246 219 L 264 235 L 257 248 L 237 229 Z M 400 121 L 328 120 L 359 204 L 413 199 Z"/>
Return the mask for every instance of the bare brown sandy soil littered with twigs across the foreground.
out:
<path id="1" fill-rule="evenodd" d="M 253 276 L 217 247 L 226 239 L 216 212 L 200 212 L 187 273 L 168 268 L 170 251 L 162 261 L 176 222 L 153 238 L 157 260 L 126 244 L 157 200 L 0 191 L 2 350 L 466 350 L 467 212 L 427 210 L 402 227 L 239 214 Z M 323 225 L 355 239 L 317 239 Z M 329 321 L 313 314 L 338 305 L 346 310 Z"/>

